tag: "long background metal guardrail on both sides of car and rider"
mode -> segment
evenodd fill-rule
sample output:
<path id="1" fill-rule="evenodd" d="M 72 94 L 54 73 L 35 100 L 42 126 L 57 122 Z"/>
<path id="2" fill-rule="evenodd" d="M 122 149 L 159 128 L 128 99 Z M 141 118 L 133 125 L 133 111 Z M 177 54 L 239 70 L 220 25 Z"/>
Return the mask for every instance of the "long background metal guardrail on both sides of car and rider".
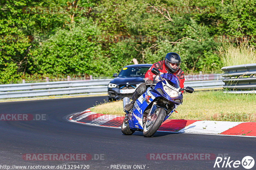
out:
<path id="1" fill-rule="evenodd" d="M 194 89 L 222 89 L 222 78 L 220 74 L 186 75 L 185 79 L 192 81 L 185 81 L 184 86 Z M 113 79 L 3 84 L 0 85 L 0 99 L 108 92 L 111 80 Z"/>

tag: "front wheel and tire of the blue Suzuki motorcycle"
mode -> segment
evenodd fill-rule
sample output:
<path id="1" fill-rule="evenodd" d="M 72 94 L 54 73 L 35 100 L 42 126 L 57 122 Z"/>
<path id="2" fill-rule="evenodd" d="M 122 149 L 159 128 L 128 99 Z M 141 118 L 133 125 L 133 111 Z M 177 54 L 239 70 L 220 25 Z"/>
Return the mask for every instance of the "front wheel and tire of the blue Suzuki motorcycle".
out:
<path id="1" fill-rule="evenodd" d="M 157 108 L 154 115 L 152 116 L 151 120 L 147 120 L 144 128 L 143 128 L 143 135 L 145 137 L 151 137 L 156 133 L 158 128 L 164 121 L 164 117 L 166 114 L 166 110 L 162 108 Z M 153 120 L 152 120 L 153 119 Z"/>

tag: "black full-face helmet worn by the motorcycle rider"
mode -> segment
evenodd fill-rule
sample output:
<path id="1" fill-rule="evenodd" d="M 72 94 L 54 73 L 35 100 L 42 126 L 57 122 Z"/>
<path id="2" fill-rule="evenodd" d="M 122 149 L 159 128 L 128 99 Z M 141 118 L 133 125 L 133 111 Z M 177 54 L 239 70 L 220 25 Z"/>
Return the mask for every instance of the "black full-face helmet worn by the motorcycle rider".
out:
<path id="1" fill-rule="evenodd" d="M 164 58 L 164 65 L 168 72 L 175 73 L 180 68 L 181 59 L 177 53 L 167 53 Z"/>

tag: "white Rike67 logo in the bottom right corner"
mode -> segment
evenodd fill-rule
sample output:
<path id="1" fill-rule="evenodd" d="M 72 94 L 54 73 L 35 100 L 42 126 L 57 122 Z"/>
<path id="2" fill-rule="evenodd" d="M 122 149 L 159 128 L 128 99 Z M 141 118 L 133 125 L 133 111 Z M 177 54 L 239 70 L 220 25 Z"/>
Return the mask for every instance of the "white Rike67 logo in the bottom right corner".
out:
<path id="1" fill-rule="evenodd" d="M 251 156 L 245 156 L 242 161 L 240 160 L 230 160 L 230 156 L 222 159 L 221 157 L 217 157 L 214 163 L 214 168 L 237 168 L 239 166 L 243 166 L 245 169 L 251 169 L 254 166 L 254 159 Z"/>

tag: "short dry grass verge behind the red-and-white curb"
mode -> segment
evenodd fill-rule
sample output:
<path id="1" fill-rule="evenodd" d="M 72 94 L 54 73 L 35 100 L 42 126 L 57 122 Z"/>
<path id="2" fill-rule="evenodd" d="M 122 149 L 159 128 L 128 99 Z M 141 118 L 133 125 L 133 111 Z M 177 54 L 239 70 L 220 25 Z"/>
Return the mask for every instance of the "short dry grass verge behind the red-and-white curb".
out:
<path id="1" fill-rule="evenodd" d="M 218 91 L 184 93 L 183 104 L 173 113 L 172 119 L 217 120 L 255 122 L 255 94 L 227 94 Z M 124 116 L 123 102 L 103 103 L 93 112 Z"/>

